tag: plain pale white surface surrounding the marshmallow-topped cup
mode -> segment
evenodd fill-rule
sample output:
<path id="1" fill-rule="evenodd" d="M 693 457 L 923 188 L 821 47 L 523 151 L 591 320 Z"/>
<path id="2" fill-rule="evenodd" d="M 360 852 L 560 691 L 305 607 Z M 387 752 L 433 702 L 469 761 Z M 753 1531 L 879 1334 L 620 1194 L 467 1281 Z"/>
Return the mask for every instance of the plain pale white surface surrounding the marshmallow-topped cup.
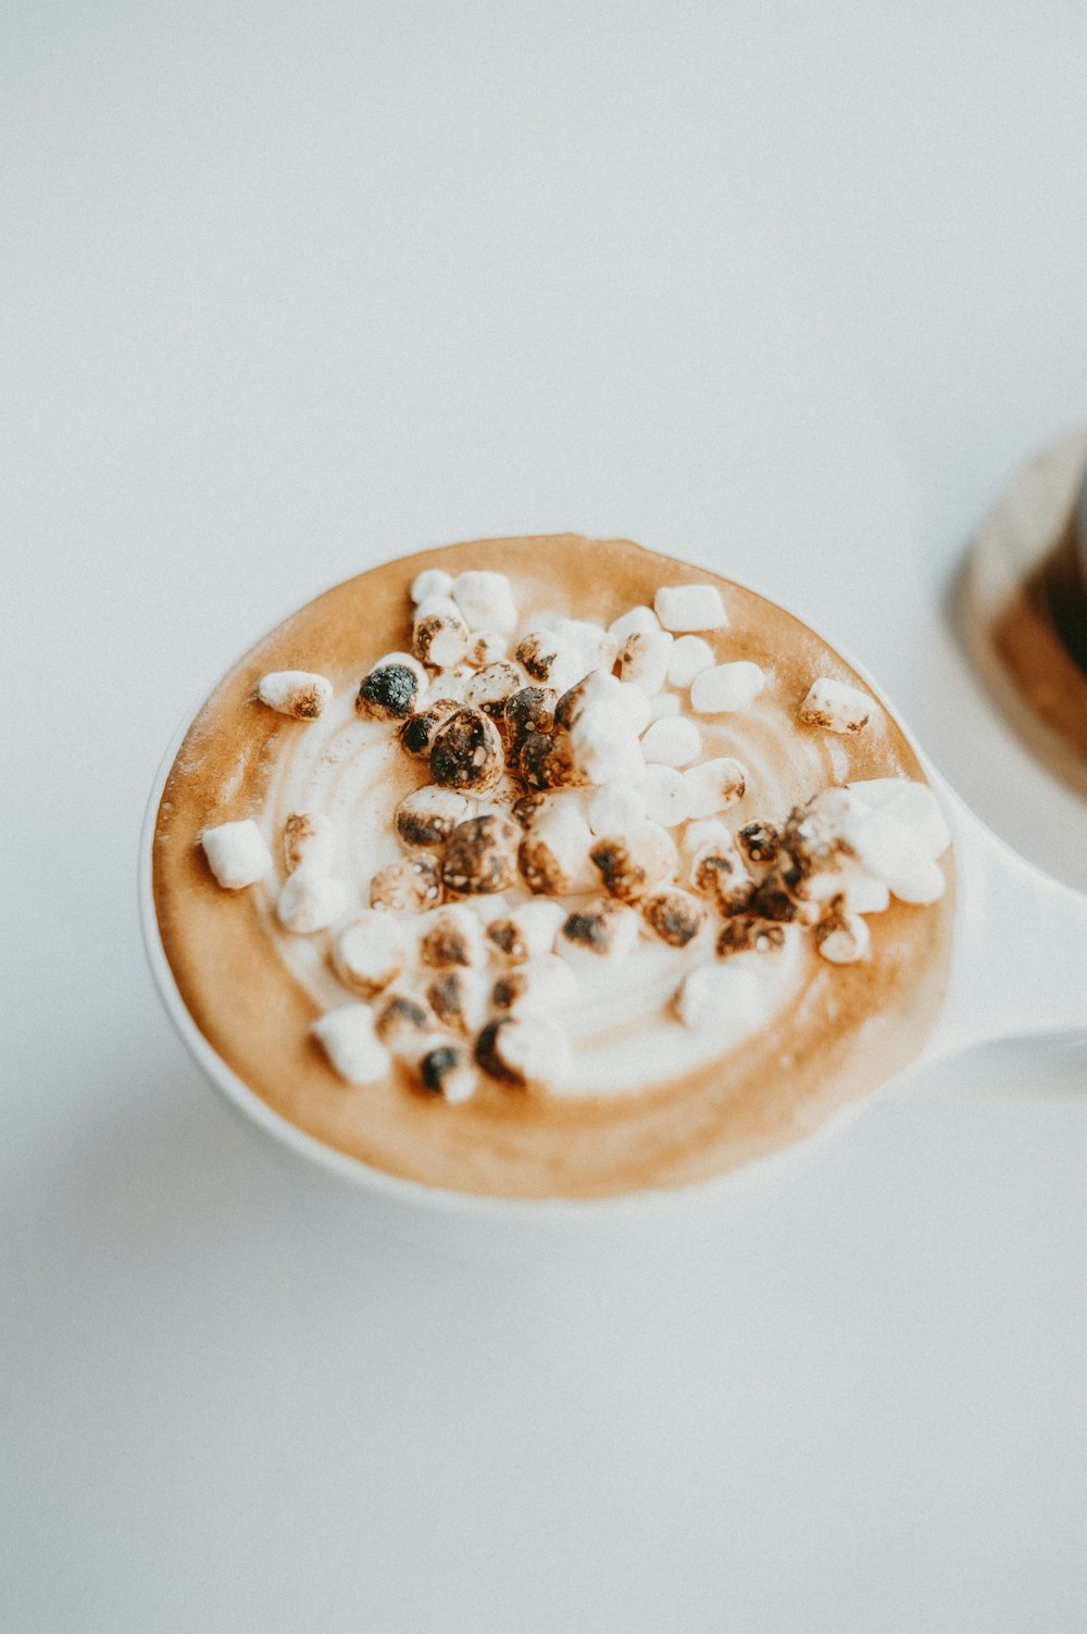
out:
<path id="1" fill-rule="evenodd" d="M 1087 417 L 1082 7 L 0 28 L 0 1626 L 1082 1629 L 1082 1051 L 958 1062 L 636 1257 L 461 1263 L 224 1113 L 134 902 L 252 637 L 567 526 L 806 608 L 1087 884 L 943 611 Z"/>

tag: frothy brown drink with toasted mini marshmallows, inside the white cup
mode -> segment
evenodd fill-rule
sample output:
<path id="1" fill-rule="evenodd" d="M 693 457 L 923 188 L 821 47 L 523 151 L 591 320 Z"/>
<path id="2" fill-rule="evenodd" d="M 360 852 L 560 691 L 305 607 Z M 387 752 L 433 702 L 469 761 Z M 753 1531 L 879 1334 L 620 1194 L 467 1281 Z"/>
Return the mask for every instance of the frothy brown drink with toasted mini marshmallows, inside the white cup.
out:
<path id="1" fill-rule="evenodd" d="M 695 1183 L 922 1047 L 955 874 L 896 721 L 781 608 L 621 539 L 361 574 L 199 711 L 165 956 L 276 1113 L 499 1196 Z"/>

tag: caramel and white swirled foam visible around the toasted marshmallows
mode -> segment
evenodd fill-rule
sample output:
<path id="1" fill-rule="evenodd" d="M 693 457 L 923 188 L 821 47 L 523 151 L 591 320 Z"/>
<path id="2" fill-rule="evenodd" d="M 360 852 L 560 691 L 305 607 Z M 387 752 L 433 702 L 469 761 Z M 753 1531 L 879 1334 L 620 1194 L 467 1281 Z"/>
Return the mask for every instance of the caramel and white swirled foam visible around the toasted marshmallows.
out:
<path id="1" fill-rule="evenodd" d="M 861 967 L 829 969 L 801 935 L 770 954 L 732 956 L 755 975 L 737 984 L 742 1003 L 721 1008 L 706 1029 L 683 1026 L 673 997 L 687 974 L 716 962 L 719 922 L 688 948 L 644 935 L 628 956 L 592 969 L 579 964 L 577 998 L 562 1015 L 570 1067 L 548 1095 L 485 1085 L 471 1103 L 451 1108 L 414 1093 L 399 1074 L 365 1090 L 338 1083 L 307 1033 L 347 992 L 330 966 L 329 936 L 291 935 L 276 920 L 286 876 L 281 837 L 293 812 L 329 815 L 329 866 L 358 907 L 373 874 L 404 855 L 392 810 L 430 781 L 428 768 L 404 753 L 387 724 L 355 712 L 355 693 L 378 657 L 410 647 L 409 587 L 427 567 L 508 574 L 518 627 L 544 611 L 608 624 L 631 606 L 652 605 L 660 585 L 713 580 L 624 541 L 456 546 L 350 580 L 230 672 L 167 784 L 155 900 L 190 1010 L 257 1093 L 319 1137 L 394 1173 L 474 1191 L 603 1194 L 685 1183 L 772 1149 L 920 1049 L 946 975 L 953 892 L 924 910 L 894 904 L 873 917 L 873 953 Z M 705 634 L 714 662 L 747 660 L 767 675 L 747 709 L 698 719 L 700 758 L 732 757 L 747 768 L 747 791 L 724 815 L 732 832 L 755 819 L 780 824 L 827 784 L 920 778 L 881 708 L 865 734 L 848 740 L 799 725 L 796 708 L 814 676 L 863 683 L 780 608 L 714 582 L 729 618 Z M 255 685 L 271 668 L 333 681 L 320 719 L 284 721 L 255 703 Z M 445 690 L 438 681 L 432 696 Z M 474 810 L 500 806 L 494 797 L 474 802 Z M 239 817 L 258 822 L 276 863 L 276 876 L 244 897 L 209 884 L 195 845 L 204 825 Z M 945 873 L 950 877 L 948 859 Z M 512 892 L 508 900 L 526 895 Z M 414 966 L 405 984 L 418 985 Z"/>

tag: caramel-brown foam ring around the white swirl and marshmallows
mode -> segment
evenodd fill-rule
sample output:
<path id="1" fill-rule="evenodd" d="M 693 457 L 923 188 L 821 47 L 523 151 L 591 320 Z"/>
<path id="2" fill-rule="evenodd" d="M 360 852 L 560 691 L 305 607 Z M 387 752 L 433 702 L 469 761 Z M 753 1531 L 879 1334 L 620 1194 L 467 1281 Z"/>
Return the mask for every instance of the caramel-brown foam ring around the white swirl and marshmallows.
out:
<path id="1" fill-rule="evenodd" d="M 299 668 L 355 688 L 369 663 L 410 645 L 407 588 L 425 567 L 497 569 L 523 613 L 559 606 L 610 623 L 662 583 L 709 582 L 705 569 L 623 541 L 577 534 L 487 539 L 428 551 L 361 574 L 266 636 L 199 711 L 167 779 L 154 838 L 162 941 L 181 997 L 219 1056 L 291 1123 L 365 1163 L 432 1186 L 500 1196 L 608 1196 L 708 1178 L 811 1132 L 830 1111 L 906 1065 L 940 1010 L 948 975 L 953 864 L 933 907 L 892 904 L 870 918 L 871 958 L 814 971 L 775 1026 L 709 1069 L 633 1095 L 548 1098 L 490 1085 L 463 1106 L 415 1093 L 399 1075 L 350 1088 L 309 1026 L 317 1005 L 276 956 L 253 892 L 211 881 L 198 835 L 260 810 L 280 748 L 304 732 L 255 703 L 268 670 Z M 731 626 L 708 639 L 719 662 L 752 659 L 776 672 L 788 708 L 814 675 L 863 681 L 806 626 L 727 580 Z M 528 590 L 526 590 L 528 587 Z M 924 778 L 894 721 L 829 742 L 824 783 Z M 798 727 L 798 730 L 809 730 Z M 798 786 L 796 802 L 816 789 Z M 729 812 L 739 827 L 758 789 Z"/>

